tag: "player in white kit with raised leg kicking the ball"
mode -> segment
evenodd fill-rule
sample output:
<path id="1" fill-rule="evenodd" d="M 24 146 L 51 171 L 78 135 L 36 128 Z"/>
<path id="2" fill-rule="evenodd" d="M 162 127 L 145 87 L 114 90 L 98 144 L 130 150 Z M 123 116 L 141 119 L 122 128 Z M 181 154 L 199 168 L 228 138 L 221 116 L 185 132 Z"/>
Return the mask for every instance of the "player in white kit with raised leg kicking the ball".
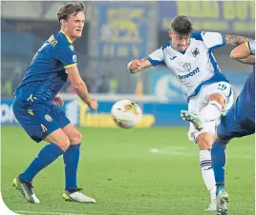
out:
<path id="1" fill-rule="evenodd" d="M 240 45 L 248 39 L 219 32 L 192 31 L 187 16 L 175 17 L 170 25 L 170 41 L 147 58 L 131 61 L 127 68 L 135 74 L 145 68 L 165 65 L 180 79 L 189 108 L 189 111 L 181 110 L 181 116 L 191 122 L 188 137 L 199 146 L 203 181 L 211 196 L 211 204 L 206 210 L 215 210 L 216 187 L 210 148 L 216 122 L 233 104 L 233 92 L 212 50 L 224 45 Z M 198 123 L 198 116 L 206 121 L 203 125 Z"/>

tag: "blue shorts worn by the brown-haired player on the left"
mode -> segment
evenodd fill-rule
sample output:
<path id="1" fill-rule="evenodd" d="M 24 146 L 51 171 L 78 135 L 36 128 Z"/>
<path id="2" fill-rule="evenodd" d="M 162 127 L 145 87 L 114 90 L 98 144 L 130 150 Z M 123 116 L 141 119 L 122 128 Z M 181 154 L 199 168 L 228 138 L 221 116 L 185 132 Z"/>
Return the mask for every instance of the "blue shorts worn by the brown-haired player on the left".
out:
<path id="1" fill-rule="evenodd" d="M 54 130 L 71 123 L 65 112 L 55 106 L 45 108 L 42 104 L 15 98 L 12 109 L 19 124 L 36 143 L 44 140 Z"/>

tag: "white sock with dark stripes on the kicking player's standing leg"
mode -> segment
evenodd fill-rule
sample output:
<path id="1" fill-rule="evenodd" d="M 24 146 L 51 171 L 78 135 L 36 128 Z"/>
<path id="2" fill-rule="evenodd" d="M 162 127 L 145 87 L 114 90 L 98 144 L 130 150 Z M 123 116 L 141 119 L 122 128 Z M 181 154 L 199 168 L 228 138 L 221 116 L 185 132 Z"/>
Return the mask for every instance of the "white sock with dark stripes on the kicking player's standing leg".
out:
<path id="1" fill-rule="evenodd" d="M 211 166 L 211 152 L 209 150 L 200 150 L 200 165 L 203 175 L 203 182 L 211 195 L 211 201 L 216 199 L 216 186 L 214 172 Z"/>

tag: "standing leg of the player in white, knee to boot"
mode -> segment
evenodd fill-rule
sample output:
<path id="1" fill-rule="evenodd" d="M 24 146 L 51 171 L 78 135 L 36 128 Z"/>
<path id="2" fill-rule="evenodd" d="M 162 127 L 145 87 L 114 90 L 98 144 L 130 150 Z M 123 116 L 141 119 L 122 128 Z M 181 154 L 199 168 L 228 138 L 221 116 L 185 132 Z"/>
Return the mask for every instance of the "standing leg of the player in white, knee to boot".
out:
<path id="1" fill-rule="evenodd" d="M 197 143 L 200 149 L 200 165 L 203 175 L 203 182 L 210 192 L 211 204 L 206 208 L 207 211 L 216 210 L 216 186 L 214 172 L 211 165 L 210 148 L 213 142 L 213 135 L 209 132 L 203 132 L 197 137 Z"/>

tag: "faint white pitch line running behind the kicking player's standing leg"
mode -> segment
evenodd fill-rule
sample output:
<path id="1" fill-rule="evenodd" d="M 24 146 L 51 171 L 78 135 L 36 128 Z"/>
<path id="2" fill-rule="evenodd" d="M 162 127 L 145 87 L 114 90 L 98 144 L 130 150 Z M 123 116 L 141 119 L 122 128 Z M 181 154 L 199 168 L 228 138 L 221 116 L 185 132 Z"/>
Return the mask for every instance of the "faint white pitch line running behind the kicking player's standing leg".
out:
<path id="1" fill-rule="evenodd" d="M 165 148 L 165 149 L 159 149 L 159 148 L 150 148 L 149 151 L 151 153 L 155 154 L 168 154 L 168 155 L 174 155 L 174 156 L 197 156 L 198 153 L 193 153 L 189 151 L 185 151 L 185 148 Z M 237 155 L 237 154 L 230 154 L 228 155 L 227 153 L 227 159 L 228 158 L 235 158 L 235 159 L 243 159 L 243 160 L 254 160 L 253 156 L 248 156 L 248 155 Z"/>

